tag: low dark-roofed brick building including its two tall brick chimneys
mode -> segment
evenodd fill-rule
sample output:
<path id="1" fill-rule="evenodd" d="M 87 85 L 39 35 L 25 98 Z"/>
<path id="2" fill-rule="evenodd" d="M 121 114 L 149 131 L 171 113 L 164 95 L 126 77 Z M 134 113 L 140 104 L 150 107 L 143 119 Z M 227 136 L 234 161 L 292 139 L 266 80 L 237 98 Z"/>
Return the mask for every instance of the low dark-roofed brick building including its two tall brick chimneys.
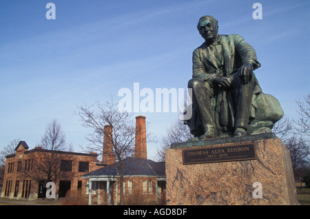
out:
<path id="1" fill-rule="evenodd" d="M 134 158 L 123 160 L 123 185 L 120 183 L 119 162 L 115 162 L 112 154 L 112 129 L 105 126 L 103 140 L 103 160 L 107 164 L 101 169 L 96 169 L 82 178 L 88 179 L 88 204 L 89 205 L 117 205 L 120 201 L 121 186 L 123 186 L 125 204 L 137 204 L 137 199 L 165 200 L 165 162 L 155 162 L 147 159 L 147 139 L 145 130 L 145 116 L 136 116 L 136 139 Z M 132 202 L 130 202 L 132 200 Z"/>

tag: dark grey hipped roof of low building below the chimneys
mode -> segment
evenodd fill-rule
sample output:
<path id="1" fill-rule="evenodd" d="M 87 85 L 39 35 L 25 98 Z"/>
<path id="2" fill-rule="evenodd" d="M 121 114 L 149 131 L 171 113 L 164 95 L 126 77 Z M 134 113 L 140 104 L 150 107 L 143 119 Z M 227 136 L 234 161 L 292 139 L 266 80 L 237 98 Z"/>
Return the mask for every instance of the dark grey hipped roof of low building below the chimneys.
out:
<path id="1" fill-rule="evenodd" d="M 165 177 L 165 162 L 155 162 L 153 160 L 141 158 L 125 158 L 123 160 L 124 176 L 161 176 Z M 119 176 L 119 162 L 107 165 L 101 169 L 91 171 L 83 175 L 83 178 Z"/>

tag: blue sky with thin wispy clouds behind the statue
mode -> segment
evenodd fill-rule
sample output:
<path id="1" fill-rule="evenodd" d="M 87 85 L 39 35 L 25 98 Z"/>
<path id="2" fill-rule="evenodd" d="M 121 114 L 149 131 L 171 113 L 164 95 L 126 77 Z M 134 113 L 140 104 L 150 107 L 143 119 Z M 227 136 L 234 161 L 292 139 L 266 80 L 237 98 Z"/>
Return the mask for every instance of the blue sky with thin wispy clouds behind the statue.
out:
<path id="1" fill-rule="evenodd" d="M 56 6 L 48 20 L 46 4 Z M 255 20 L 254 3 L 262 4 Z M 192 77 L 192 51 L 203 43 L 198 19 L 218 19 L 220 34 L 238 33 L 262 67 L 263 92 L 296 118 L 296 100 L 309 94 L 310 2 L 185 0 L 0 1 L 0 149 L 14 138 L 35 147 L 53 118 L 81 152 L 87 129 L 76 105 L 116 101 L 118 90 L 182 88 Z M 141 113 L 142 114 L 142 113 Z M 135 115 L 138 115 L 135 114 Z M 177 113 L 144 113 L 156 136 Z M 148 145 L 153 158 L 158 145 Z"/>

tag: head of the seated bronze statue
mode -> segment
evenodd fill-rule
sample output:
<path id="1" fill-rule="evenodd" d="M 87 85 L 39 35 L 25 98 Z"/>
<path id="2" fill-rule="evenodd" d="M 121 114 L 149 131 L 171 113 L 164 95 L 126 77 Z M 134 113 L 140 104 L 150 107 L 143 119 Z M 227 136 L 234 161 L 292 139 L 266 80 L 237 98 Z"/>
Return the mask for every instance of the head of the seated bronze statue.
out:
<path id="1" fill-rule="evenodd" d="M 200 17 L 197 29 L 205 41 L 215 41 L 218 35 L 218 20 L 210 15 Z"/>

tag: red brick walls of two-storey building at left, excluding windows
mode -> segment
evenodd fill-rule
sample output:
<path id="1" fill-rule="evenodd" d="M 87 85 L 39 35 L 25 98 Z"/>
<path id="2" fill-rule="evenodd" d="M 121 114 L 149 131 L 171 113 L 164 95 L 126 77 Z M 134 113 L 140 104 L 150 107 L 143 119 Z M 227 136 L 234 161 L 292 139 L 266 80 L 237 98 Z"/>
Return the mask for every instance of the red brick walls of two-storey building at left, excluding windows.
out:
<path id="1" fill-rule="evenodd" d="M 1 197 L 6 195 L 6 189 L 7 185 L 10 185 L 10 191 L 9 198 L 22 198 L 23 189 L 25 191 L 25 186 L 23 188 L 23 182 L 24 180 L 28 180 L 28 184 L 31 180 L 30 184 L 30 194 L 29 199 L 35 199 L 38 196 L 39 191 L 39 182 L 36 180 L 36 178 L 39 178 L 36 174 L 39 171 L 36 171 L 37 167 L 36 165 L 44 165 L 45 159 L 50 158 L 50 153 L 48 152 L 40 152 L 38 149 L 34 149 L 30 153 L 26 153 L 27 149 L 24 149 L 22 146 L 17 149 L 17 152 L 15 156 L 8 157 L 6 160 L 6 168 L 5 168 L 5 174 L 3 178 L 3 187 L 1 190 Z M 86 183 L 87 179 L 81 178 L 84 174 L 87 172 L 79 172 L 79 162 L 89 162 L 89 171 L 94 171 L 96 169 L 101 168 L 101 166 L 96 165 L 96 156 L 94 154 L 89 154 L 88 156 L 83 155 L 76 155 L 76 154 L 54 154 L 56 157 L 56 160 L 72 160 L 72 171 L 61 171 L 61 174 L 59 174 L 59 178 L 56 179 L 54 182 L 56 185 L 56 194 L 59 192 L 59 181 L 60 180 L 70 180 L 71 181 L 71 191 L 77 191 L 78 189 L 78 181 L 82 181 L 82 194 L 86 193 Z M 26 160 L 33 160 L 32 161 L 32 170 L 31 167 L 27 168 L 25 171 L 25 164 L 28 163 Z M 18 163 L 21 162 L 21 171 L 17 171 L 18 169 Z M 10 164 L 10 165 L 9 165 Z M 30 163 L 28 163 L 31 165 Z M 11 168 L 12 167 L 12 168 Z M 8 169 L 10 170 L 8 171 Z M 11 171 L 12 169 L 12 171 Z M 19 187 L 17 191 L 17 196 L 14 197 L 14 191 L 15 191 L 15 185 L 16 182 L 19 181 Z M 8 182 L 8 183 L 7 183 Z M 25 181 L 26 183 L 26 181 Z M 7 194 L 8 195 L 8 194 Z"/>

